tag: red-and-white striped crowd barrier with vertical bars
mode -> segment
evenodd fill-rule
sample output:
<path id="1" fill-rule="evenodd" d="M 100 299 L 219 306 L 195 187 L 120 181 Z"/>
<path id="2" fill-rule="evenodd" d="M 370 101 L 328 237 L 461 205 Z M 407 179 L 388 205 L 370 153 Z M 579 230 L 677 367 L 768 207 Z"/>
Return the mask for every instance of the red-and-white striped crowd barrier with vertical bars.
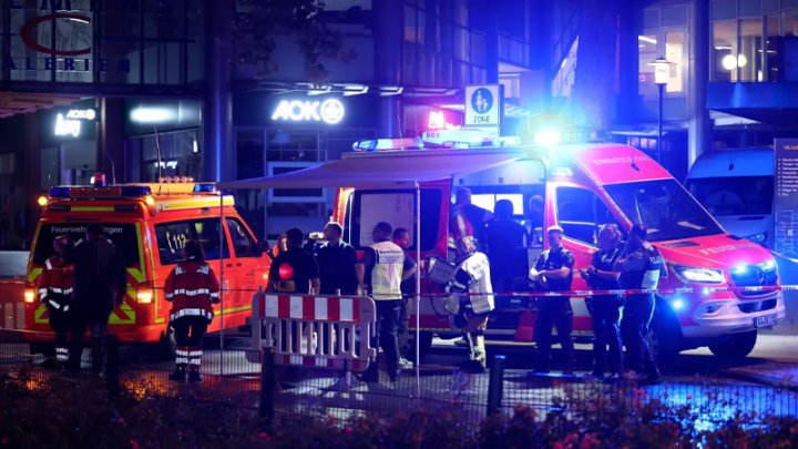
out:
<path id="1" fill-rule="evenodd" d="M 374 299 L 365 296 L 253 296 L 249 361 L 274 350 L 276 365 L 364 371 L 377 357 Z M 374 345 L 374 346 L 372 346 Z"/>

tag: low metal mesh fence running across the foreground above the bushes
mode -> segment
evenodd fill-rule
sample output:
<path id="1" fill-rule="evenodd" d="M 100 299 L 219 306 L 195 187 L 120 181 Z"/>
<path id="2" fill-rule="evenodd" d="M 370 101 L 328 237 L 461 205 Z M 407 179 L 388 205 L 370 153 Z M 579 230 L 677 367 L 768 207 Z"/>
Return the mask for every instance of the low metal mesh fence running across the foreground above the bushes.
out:
<path id="1" fill-rule="evenodd" d="M 25 376 L 30 388 L 45 388 L 58 370 L 48 369 L 41 355 L 31 355 L 24 334 L 0 335 L 0 371 Z M 217 335 L 205 338 L 198 384 L 168 380 L 174 361 L 158 359 L 147 347 L 121 346 L 110 339 L 109 365 L 102 382 L 109 394 L 124 390 L 133 397 L 191 396 L 221 402 L 272 420 L 347 421 L 423 409 L 456 409 L 462 419 L 479 422 L 490 414 L 512 414 L 516 407 L 535 410 L 540 419 L 550 414 L 601 421 L 631 415 L 653 404 L 710 429 L 737 416 L 748 426 L 764 417 L 798 416 L 798 391 L 715 377 L 671 379 L 642 386 L 633 381 L 605 382 L 581 376 L 536 376 L 523 369 L 504 369 L 501 356 L 488 373 L 469 373 L 447 366 L 421 365 L 420 376 L 405 371 L 399 381 L 381 373 L 378 382 L 361 382 L 350 373 L 249 361 L 247 337 Z M 90 350 L 83 354 L 89 371 Z M 270 360 L 270 358 L 267 358 Z M 264 369 L 265 367 L 265 369 Z M 266 386 L 264 388 L 264 386 Z M 268 386 L 272 386 L 269 388 Z"/>

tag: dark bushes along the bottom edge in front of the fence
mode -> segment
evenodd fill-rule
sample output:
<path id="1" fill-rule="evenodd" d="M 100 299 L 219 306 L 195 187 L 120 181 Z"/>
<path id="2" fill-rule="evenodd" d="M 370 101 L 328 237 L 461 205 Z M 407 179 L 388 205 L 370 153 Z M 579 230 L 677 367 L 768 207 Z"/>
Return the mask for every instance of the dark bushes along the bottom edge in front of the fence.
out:
<path id="1" fill-rule="evenodd" d="M 712 430 L 698 412 L 668 407 L 634 388 L 623 398 L 561 398 L 540 414 L 518 406 L 475 425 L 457 404 L 347 420 L 287 417 L 263 430 L 254 410 L 231 400 L 165 397 L 137 380 L 114 399 L 101 379 L 0 374 L 0 447 L 52 448 L 796 448 L 796 417 L 737 414 Z M 621 394 L 621 392 L 620 392 Z M 618 394 L 618 395 L 620 395 Z M 569 404 L 577 404 L 580 412 Z M 758 424 L 753 426 L 751 424 Z"/>

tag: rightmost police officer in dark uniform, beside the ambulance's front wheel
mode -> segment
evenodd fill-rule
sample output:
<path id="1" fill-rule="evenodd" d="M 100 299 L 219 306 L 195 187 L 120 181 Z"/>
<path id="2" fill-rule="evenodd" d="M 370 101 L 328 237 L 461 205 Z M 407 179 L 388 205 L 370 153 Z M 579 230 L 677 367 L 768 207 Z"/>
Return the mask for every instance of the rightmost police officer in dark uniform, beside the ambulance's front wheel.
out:
<path id="1" fill-rule="evenodd" d="M 659 278 L 667 277 L 662 254 L 648 243 L 647 234 L 648 229 L 642 224 L 635 224 L 630 229 L 628 243 L 614 268 L 621 272 L 618 282 L 622 288 L 656 289 Z M 621 320 L 628 365 L 645 376 L 645 382 L 656 382 L 662 378 L 646 340 L 655 304 L 653 293 L 626 295 Z"/>

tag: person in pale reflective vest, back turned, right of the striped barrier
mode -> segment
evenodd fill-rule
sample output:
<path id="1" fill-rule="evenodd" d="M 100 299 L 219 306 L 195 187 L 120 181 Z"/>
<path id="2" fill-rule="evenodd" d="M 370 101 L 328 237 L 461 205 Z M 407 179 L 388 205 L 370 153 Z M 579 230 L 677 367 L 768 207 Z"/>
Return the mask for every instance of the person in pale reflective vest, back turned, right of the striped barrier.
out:
<path id="1" fill-rule="evenodd" d="M 401 278 L 405 252 L 391 242 L 391 225 L 379 222 L 371 232 L 374 244 L 366 248 L 356 265 L 358 285 L 377 306 L 377 333 L 385 351 L 388 376 L 399 380 L 399 315 L 401 313 Z M 364 381 L 378 381 L 377 360 L 362 375 Z"/>

